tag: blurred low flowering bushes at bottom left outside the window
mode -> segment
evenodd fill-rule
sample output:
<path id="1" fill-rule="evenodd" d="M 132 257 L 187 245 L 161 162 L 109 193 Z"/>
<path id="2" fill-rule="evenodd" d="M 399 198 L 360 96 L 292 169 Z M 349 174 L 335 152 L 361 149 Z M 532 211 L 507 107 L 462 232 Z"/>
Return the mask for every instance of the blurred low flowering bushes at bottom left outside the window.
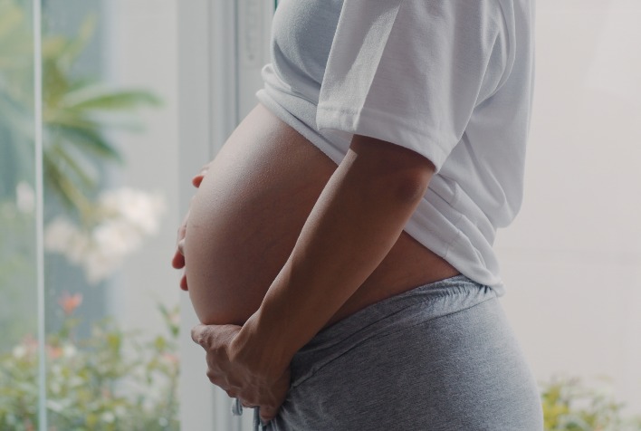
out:
<path id="1" fill-rule="evenodd" d="M 154 340 L 141 341 L 110 320 L 77 340 L 78 299 L 61 302 L 67 317 L 46 343 L 48 428 L 178 430 L 177 308 L 159 306 L 167 333 Z M 37 429 L 38 353 L 36 340 L 27 338 L 0 355 L 0 429 Z"/>

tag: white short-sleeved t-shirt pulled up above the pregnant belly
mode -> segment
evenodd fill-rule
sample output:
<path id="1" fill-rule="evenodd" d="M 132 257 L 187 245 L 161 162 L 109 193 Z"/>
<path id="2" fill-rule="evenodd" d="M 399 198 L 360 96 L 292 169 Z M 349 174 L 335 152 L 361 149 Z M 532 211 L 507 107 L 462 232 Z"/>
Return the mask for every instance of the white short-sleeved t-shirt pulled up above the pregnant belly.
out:
<path id="1" fill-rule="evenodd" d="M 282 0 L 257 93 L 337 164 L 354 134 L 436 168 L 405 230 L 503 292 L 492 244 L 521 206 L 534 0 Z"/>

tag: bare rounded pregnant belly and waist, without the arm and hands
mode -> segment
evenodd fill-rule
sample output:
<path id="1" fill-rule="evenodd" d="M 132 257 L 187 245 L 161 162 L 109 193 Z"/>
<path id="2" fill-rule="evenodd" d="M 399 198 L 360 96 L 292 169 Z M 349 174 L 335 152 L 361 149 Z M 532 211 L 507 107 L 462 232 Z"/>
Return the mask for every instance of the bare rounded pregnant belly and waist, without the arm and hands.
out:
<path id="1" fill-rule="evenodd" d="M 200 321 L 243 324 L 258 309 L 335 169 L 262 105 L 234 130 L 194 196 L 187 225 L 187 283 Z M 456 273 L 404 233 L 334 321 Z"/>

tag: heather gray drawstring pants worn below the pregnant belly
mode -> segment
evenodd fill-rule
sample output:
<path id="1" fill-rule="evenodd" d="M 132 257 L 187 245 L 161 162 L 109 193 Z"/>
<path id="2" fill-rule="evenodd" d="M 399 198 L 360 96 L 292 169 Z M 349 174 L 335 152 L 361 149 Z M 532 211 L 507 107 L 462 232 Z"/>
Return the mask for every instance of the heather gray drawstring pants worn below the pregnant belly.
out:
<path id="1" fill-rule="evenodd" d="M 539 392 L 496 293 L 463 275 L 322 330 L 269 431 L 541 431 Z"/>

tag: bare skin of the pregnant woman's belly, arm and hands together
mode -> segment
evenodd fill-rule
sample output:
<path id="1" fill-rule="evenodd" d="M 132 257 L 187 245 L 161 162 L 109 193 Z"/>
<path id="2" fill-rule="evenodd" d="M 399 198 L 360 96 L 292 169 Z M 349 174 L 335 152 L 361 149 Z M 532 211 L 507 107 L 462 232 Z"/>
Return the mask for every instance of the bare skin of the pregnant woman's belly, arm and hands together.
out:
<path id="1" fill-rule="evenodd" d="M 269 420 L 293 355 L 322 327 L 457 274 L 402 230 L 433 174 L 426 158 L 359 136 L 336 168 L 256 108 L 209 166 L 186 257 L 174 257 L 188 263 L 183 286 L 199 318 L 215 323 L 192 330 L 208 378 Z"/>

